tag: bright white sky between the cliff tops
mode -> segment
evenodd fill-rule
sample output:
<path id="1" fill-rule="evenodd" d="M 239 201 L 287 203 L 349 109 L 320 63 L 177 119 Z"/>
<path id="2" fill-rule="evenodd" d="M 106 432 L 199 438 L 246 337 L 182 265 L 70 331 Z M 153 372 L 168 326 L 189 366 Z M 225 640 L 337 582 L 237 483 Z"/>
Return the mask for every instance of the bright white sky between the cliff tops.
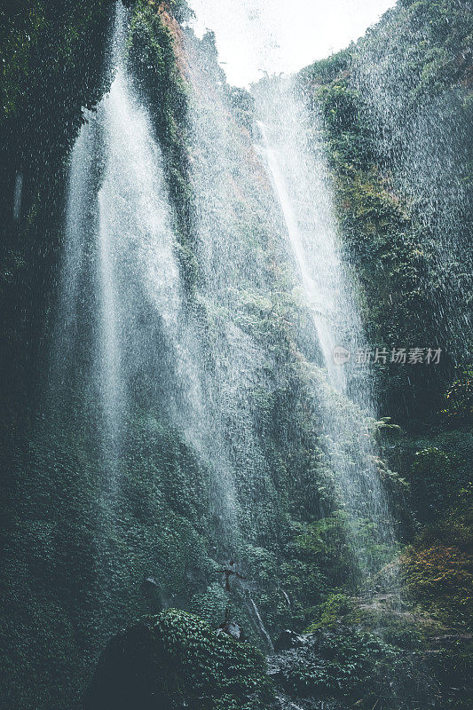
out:
<path id="1" fill-rule="evenodd" d="M 395 0 L 188 0 L 199 36 L 213 29 L 230 83 L 293 72 L 347 47 Z"/>

